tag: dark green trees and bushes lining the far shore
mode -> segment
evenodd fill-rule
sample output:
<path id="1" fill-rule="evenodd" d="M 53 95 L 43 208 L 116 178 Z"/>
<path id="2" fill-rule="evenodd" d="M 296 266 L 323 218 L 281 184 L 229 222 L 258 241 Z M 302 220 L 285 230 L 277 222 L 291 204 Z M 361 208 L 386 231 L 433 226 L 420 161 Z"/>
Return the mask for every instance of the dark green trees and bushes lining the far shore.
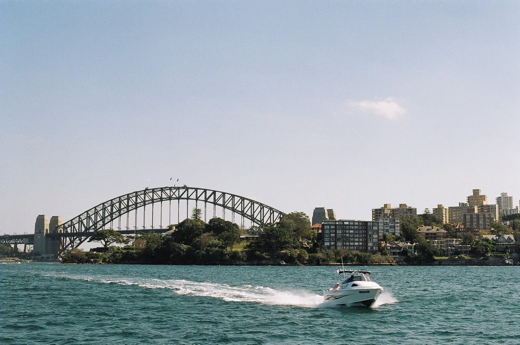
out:
<path id="1" fill-rule="evenodd" d="M 123 236 L 113 229 L 101 229 L 90 237 L 89 242 L 100 242 L 105 253 L 86 253 L 71 250 L 63 255 L 63 262 L 106 262 L 137 264 L 207 264 L 207 265 L 251 265 L 251 264 L 307 264 L 319 265 L 330 262 L 372 264 L 391 262 L 393 259 L 385 251 L 386 243 L 394 240 L 411 242 L 418 257 L 433 261 L 444 256 L 443 250 L 428 243 L 419 234 L 420 226 L 438 226 L 448 232 L 450 238 L 462 238 L 463 244 L 472 245 L 472 254 L 482 257 L 486 253 L 498 252 L 491 240 L 475 240 L 472 234 L 460 235 L 450 224 L 441 224 L 426 209 L 418 216 L 399 216 L 401 227 L 399 236 L 383 234 L 380 237 L 379 254 L 352 250 L 336 250 L 324 247 L 317 238 L 317 232 L 310 229 L 309 217 L 303 212 L 291 212 L 281 216 L 276 223 L 266 224 L 255 239 L 240 240 L 241 231 L 237 224 L 221 218 L 213 218 L 205 223 L 201 220 L 201 210 L 193 209 L 191 218 L 176 225 L 171 235 L 140 233 L 138 236 Z M 495 225 L 495 224 L 494 224 Z M 498 227 L 498 225 L 496 225 Z M 125 247 L 110 246 L 126 244 Z M 239 250 L 236 249 L 240 244 Z M 457 254 L 457 253 L 456 253 Z M 407 250 L 402 258 L 410 259 Z"/>

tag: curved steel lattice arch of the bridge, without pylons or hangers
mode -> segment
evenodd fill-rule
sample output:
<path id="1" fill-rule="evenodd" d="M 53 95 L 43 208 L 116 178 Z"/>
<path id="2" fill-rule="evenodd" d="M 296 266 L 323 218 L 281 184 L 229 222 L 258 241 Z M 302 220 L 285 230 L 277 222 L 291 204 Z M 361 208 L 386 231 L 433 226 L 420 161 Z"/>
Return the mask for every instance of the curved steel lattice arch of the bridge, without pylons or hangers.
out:
<path id="1" fill-rule="evenodd" d="M 192 200 L 195 201 L 196 207 L 198 207 L 199 202 L 204 203 L 204 210 L 209 203 L 214 208 L 218 206 L 223 210 L 237 213 L 259 226 L 275 223 L 285 214 L 261 202 L 224 191 L 187 186 L 146 188 L 102 202 L 73 219 L 62 223 L 58 227 L 58 232 L 51 234 L 51 236 L 62 238 L 62 243 L 57 253 L 58 257 L 66 250 L 77 248 L 95 231 L 102 229 L 107 224 L 121 218 L 121 216 L 139 208 L 145 208 L 153 203 L 172 200 Z M 121 231 L 121 233 L 128 233 L 128 231 Z"/>

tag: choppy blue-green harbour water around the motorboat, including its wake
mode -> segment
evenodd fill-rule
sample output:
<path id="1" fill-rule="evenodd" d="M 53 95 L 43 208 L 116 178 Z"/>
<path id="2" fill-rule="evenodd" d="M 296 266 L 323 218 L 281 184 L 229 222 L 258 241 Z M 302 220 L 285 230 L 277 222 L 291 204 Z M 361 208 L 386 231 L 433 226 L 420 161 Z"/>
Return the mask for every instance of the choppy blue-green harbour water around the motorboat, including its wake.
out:
<path id="1" fill-rule="evenodd" d="M 518 266 L 369 267 L 375 308 L 321 305 L 335 267 L 0 266 L 3 345 L 520 344 Z"/>

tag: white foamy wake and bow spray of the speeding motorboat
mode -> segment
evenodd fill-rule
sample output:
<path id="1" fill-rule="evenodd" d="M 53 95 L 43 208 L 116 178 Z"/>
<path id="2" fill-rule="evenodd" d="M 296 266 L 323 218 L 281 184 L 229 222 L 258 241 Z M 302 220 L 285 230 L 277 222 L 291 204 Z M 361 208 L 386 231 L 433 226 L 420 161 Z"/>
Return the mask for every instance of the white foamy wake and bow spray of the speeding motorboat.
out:
<path id="1" fill-rule="evenodd" d="M 242 285 L 233 287 L 212 282 L 191 282 L 184 279 L 132 279 L 132 278 L 95 278 L 88 276 L 58 275 L 69 279 L 87 280 L 104 284 L 134 285 L 149 289 L 167 289 L 177 295 L 218 298 L 230 302 L 256 302 L 271 305 L 295 305 L 305 308 L 326 308 L 323 296 L 305 290 L 276 290 L 264 286 Z M 397 300 L 391 293 L 384 291 L 374 304 L 379 306 Z"/>

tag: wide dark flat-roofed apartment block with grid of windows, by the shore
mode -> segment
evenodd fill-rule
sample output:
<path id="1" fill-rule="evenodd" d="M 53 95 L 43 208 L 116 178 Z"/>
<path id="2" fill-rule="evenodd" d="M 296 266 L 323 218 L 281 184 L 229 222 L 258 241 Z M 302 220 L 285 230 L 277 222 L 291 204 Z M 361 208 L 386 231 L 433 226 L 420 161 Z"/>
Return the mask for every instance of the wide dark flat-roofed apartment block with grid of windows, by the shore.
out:
<path id="1" fill-rule="evenodd" d="M 323 245 L 329 249 L 349 249 L 374 254 L 379 250 L 377 222 L 324 220 L 321 223 L 321 236 Z"/>

